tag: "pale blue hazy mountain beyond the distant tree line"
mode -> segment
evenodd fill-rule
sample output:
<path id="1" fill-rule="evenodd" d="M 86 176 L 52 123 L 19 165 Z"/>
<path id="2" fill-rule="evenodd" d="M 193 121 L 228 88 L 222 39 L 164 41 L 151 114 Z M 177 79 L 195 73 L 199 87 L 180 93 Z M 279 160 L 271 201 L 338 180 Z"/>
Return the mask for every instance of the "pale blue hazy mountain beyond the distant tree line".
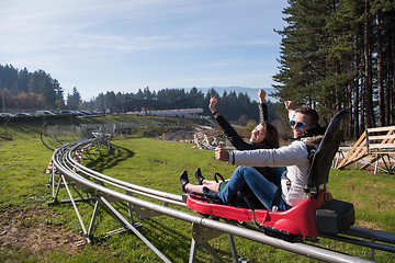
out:
<path id="1" fill-rule="evenodd" d="M 247 95 L 252 100 L 252 101 L 259 101 L 258 99 L 258 91 L 260 89 L 264 90 L 268 95 L 267 95 L 267 100 L 271 101 L 271 102 L 278 102 L 279 100 L 271 96 L 270 94 L 273 93 L 275 90 L 274 88 L 244 88 L 244 87 L 212 87 L 214 88 L 214 90 L 216 92 L 218 92 L 219 95 L 223 95 L 224 91 L 226 91 L 227 93 L 229 93 L 230 91 L 235 91 L 236 94 L 238 93 L 247 93 Z M 212 88 L 198 88 L 198 90 L 200 90 L 201 92 L 203 92 L 204 94 L 206 94 L 208 92 L 208 90 L 211 90 Z M 190 91 L 192 88 L 183 88 L 185 91 Z"/>

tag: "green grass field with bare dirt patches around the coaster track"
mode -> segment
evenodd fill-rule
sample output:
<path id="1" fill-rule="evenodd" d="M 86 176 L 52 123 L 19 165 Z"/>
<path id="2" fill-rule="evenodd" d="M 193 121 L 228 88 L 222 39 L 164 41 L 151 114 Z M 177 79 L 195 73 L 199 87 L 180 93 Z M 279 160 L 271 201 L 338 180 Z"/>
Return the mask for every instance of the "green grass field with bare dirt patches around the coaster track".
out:
<path id="1" fill-rule="evenodd" d="M 35 127 L 1 127 L 0 139 L 0 262 L 160 262 L 136 236 L 123 232 L 98 239 L 94 244 L 78 247 L 83 240 L 81 227 L 71 205 L 47 206 L 52 190 L 46 187 L 44 174 L 52 157 Z M 94 156 L 83 164 L 106 175 L 137 185 L 181 194 L 179 175 L 188 170 L 193 178 L 200 167 L 211 176 L 221 172 L 230 176 L 234 167 L 215 160 L 212 151 L 192 148 L 192 144 L 163 141 L 142 136 L 122 136 L 112 140 L 112 155 Z M 395 178 L 366 171 L 332 170 L 329 190 L 336 198 L 356 206 L 356 225 L 395 232 Z M 65 192 L 60 195 L 65 196 Z M 79 204 L 83 220 L 89 222 L 92 204 Z M 187 208 L 182 208 L 188 210 Z M 142 232 L 173 262 L 188 262 L 191 244 L 191 224 L 166 216 L 144 220 Z M 100 237 L 120 228 L 117 221 L 101 213 L 94 235 Z M 236 237 L 240 256 L 250 262 L 317 262 L 280 249 Z M 232 261 L 226 236 L 210 242 L 223 256 Z M 369 258 L 371 251 L 357 245 L 320 239 L 319 247 Z M 198 262 L 213 262 L 200 249 Z M 393 253 L 376 251 L 375 260 L 394 262 Z"/>

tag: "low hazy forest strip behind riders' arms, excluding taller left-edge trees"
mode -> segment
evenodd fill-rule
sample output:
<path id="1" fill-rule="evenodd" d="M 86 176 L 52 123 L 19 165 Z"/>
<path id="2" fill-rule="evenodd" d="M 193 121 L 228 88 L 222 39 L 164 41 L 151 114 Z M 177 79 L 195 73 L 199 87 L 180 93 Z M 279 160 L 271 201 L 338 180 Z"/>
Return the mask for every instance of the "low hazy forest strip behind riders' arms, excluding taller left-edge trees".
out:
<path id="1" fill-rule="evenodd" d="M 136 93 L 109 91 L 99 93 L 90 101 L 82 103 L 84 108 L 110 108 L 112 112 L 137 112 L 170 108 L 203 108 L 203 115 L 211 115 L 208 101 L 211 96 L 218 99 L 217 108 L 230 122 L 246 124 L 249 119 L 258 122 L 258 102 L 251 101 L 247 93 L 224 92 L 218 94 L 214 88 L 203 93 L 198 88 L 189 92 L 185 89 L 162 89 L 150 91 L 148 87 L 138 89 Z M 275 104 L 268 102 L 270 119 L 274 119 Z"/>

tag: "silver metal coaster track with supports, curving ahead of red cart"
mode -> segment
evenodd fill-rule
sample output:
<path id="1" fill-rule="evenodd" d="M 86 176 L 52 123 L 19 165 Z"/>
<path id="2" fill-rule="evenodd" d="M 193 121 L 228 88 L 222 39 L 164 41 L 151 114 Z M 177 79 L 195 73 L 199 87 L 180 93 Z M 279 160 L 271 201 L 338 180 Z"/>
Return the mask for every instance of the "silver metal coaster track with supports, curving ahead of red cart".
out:
<path id="1" fill-rule="evenodd" d="M 92 145 L 108 144 L 111 135 L 102 134 L 97 138 L 83 139 L 63 145 L 54 151 L 52 159 L 53 168 L 49 182 L 53 187 L 53 201 L 50 204 L 69 203 L 74 206 L 88 242 L 91 242 L 93 238 L 92 233 L 95 226 L 95 216 L 98 210 L 100 207 L 104 206 L 106 210 L 109 210 L 110 214 L 121 224 L 122 229 L 126 229 L 135 233 L 163 262 L 171 261 L 138 231 L 140 225 L 134 222 L 134 214 L 140 219 L 155 215 L 166 215 L 174 219 L 191 222 L 193 230 L 189 262 L 194 262 L 199 244 L 208 250 L 215 261 L 222 262 L 222 259 L 207 243 L 207 240 L 219 236 L 219 233 L 228 235 L 232 254 L 235 262 L 237 262 L 238 259 L 236 249 L 234 248 L 233 236 L 238 236 L 326 262 L 371 262 L 366 259 L 343 254 L 341 252 L 329 251 L 307 243 L 287 242 L 269 237 L 258 229 L 248 229 L 171 208 L 169 207 L 169 204 L 176 207 L 185 206 L 182 195 L 174 195 L 116 180 L 90 170 L 78 162 L 77 155 L 81 151 L 81 149 L 87 149 Z M 66 188 L 70 199 L 58 199 L 58 194 L 61 187 Z M 86 196 L 83 192 L 86 192 Z M 78 198 L 74 197 L 76 196 L 76 193 L 79 196 Z M 144 196 L 144 199 L 135 196 Z M 89 226 L 86 226 L 81 219 L 78 202 L 95 203 Z M 115 206 L 112 205 L 114 202 L 126 204 L 129 208 L 128 217 L 124 215 L 125 213 L 117 210 Z M 158 204 L 160 202 L 162 202 L 162 205 Z M 217 232 L 218 235 L 216 235 Z"/>

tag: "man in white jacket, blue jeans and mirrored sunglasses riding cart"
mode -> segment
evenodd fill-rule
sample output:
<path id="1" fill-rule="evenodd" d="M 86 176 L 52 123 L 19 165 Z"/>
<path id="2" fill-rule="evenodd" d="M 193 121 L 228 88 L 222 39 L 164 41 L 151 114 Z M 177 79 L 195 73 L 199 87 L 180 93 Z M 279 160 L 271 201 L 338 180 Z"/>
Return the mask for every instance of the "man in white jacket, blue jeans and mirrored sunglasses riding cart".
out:
<path id="1" fill-rule="evenodd" d="M 248 185 L 259 201 L 269 209 L 286 210 L 305 198 L 304 186 L 311 164 L 309 148 L 317 147 L 325 129 L 318 125 L 318 114 L 315 110 L 301 107 L 295 111 L 290 122 L 295 141 L 279 149 L 258 149 L 246 151 L 225 150 L 218 146 L 215 150 L 217 160 L 244 165 L 238 167 L 230 180 L 219 192 L 212 191 L 204 185 L 193 185 L 188 181 L 184 171 L 180 176 L 181 188 L 184 192 L 212 194 L 222 204 L 230 204 L 237 193 Z M 252 165 L 286 167 L 281 175 L 281 184 L 276 185 L 261 176 Z M 281 193 L 281 194 L 279 194 Z M 279 196 L 276 198 L 276 196 Z"/>

